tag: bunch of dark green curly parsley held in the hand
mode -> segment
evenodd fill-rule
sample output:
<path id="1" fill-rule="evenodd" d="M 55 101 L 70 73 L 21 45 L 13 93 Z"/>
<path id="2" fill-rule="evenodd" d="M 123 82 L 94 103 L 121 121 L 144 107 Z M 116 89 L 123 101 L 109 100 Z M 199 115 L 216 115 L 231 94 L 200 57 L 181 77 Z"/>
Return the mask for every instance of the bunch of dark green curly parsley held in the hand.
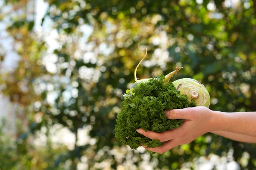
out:
<path id="1" fill-rule="evenodd" d="M 188 100 L 187 95 L 181 95 L 172 82 L 165 83 L 164 76 L 139 83 L 123 96 L 115 137 L 131 149 L 137 149 L 141 143 L 148 147 L 163 145 L 164 142 L 149 139 L 136 130 L 142 128 L 157 133 L 172 130 L 179 127 L 183 119 L 167 119 L 164 111 L 196 106 L 193 100 Z"/>

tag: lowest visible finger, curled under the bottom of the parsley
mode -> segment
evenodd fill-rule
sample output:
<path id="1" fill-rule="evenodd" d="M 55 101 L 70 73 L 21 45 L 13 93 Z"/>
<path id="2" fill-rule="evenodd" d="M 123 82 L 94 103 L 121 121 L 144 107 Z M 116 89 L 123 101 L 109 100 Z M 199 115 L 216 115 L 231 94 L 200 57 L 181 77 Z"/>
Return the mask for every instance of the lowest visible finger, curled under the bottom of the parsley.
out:
<path id="1" fill-rule="evenodd" d="M 156 153 L 164 153 L 166 152 L 167 150 L 170 150 L 172 149 L 173 147 L 176 147 L 179 145 L 179 142 L 178 140 L 176 139 L 173 139 L 173 140 L 170 140 L 168 142 L 165 142 L 163 144 L 163 146 L 160 146 L 160 147 L 152 147 L 152 148 L 147 148 L 146 146 L 142 145 L 146 150 L 149 150 L 149 151 L 152 151 L 152 152 L 156 152 Z"/>

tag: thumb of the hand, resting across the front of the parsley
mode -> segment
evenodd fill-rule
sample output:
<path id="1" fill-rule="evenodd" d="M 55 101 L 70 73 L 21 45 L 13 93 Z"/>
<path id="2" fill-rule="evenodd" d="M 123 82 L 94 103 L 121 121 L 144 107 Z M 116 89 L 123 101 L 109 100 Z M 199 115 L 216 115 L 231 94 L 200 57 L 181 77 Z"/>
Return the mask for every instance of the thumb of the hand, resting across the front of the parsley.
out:
<path id="1" fill-rule="evenodd" d="M 168 119 L 190 119 L 191 114 L 189 114 L 190 108 L 183 109 L 172 109 L 165 111 L 165 115 Z"/>

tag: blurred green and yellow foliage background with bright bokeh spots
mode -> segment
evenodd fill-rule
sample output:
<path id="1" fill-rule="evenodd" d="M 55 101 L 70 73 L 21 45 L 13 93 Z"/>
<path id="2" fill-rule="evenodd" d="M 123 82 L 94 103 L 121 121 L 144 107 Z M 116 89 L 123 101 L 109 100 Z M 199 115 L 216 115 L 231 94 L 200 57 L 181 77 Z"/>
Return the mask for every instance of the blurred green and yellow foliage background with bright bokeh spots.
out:
<path id="1" fill-rule="evenodd" d="M 159 155 L 116 141 L 122 94 L 184 68 L 215 111 L 256 111 L 253 0 L 0 0 L 0 170 L 255 170 L 207 133 Z"/>

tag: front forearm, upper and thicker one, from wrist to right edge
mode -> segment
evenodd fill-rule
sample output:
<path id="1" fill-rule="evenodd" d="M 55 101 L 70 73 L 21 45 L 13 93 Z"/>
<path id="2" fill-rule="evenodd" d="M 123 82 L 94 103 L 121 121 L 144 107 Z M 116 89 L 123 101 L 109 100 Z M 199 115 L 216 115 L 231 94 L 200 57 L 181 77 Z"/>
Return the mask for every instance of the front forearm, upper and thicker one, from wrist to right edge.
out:
<path id="1" fill-rule="evenodd" d="M 256 136 L 256 112 L 224 113 L 213 111 L 212 131 L 227 131 Z"/>

